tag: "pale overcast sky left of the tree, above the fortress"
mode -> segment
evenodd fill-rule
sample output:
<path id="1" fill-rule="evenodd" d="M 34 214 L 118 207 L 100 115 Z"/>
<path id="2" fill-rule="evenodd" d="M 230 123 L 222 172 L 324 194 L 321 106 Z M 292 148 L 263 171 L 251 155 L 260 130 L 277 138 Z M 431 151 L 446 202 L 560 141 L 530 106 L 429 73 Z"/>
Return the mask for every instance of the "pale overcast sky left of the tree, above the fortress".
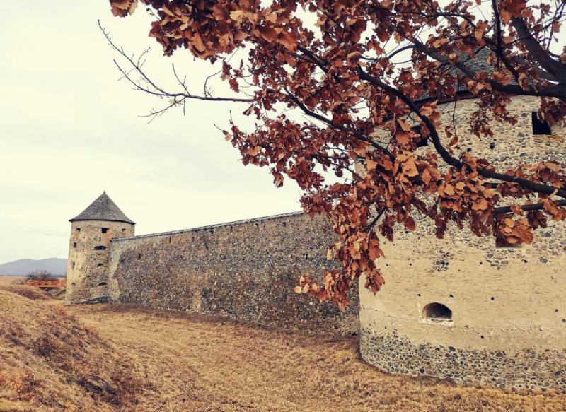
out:
<path id="1" fill-rule="evenodd" d="M 268 169 L 244 167 L 214 127 L 245 106 L 139 117 L 163 103 L 118 81 L 97 19 L 129 52 L 151 47 L 146 69 L 164 84 L 173 61 L 195 93 L 213 72 L 188 52 L 162 57 L 143 9 L 120 19 L 106 0 L 0 4 L 0 263 L 66 258 L 69 218 L 103 190 L 140 235 L 299 210 L 294 182 L 277 189 Z"/>

